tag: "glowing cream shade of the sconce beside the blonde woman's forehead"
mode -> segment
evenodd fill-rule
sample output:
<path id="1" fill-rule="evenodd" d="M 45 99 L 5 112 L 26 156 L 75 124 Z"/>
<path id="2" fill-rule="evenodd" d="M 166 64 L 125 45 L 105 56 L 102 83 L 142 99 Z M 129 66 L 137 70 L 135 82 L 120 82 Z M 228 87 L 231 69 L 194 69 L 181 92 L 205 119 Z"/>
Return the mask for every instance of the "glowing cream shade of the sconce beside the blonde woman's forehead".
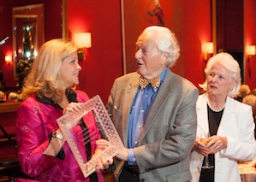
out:
<path id="1" fill-rule="evenodd" d="M 77 32 L 74 33 L 74 44 L 78 48 L 89 48 L 92 47 L 91 32 Z"/>

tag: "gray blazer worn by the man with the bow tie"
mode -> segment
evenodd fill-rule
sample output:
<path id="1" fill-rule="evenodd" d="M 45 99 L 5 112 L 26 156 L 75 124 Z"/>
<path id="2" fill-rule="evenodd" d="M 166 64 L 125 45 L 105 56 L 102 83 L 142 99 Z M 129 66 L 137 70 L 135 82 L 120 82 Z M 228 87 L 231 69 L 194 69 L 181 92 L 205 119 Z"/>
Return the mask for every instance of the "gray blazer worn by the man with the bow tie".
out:
<path id="1" fill-rule="evenodd" d="M 128 118 L 139 88 L 138 73 L 115 80 L 106 109 L 125 146 L 128 144 Z M 141 181 L 189 181 L 189 156 L 195 139 L 195 104 L 199 92 L 187 79 L 168 69 L 160 85 L 134 155 Z M 118 181 L 123 161 L 115 161 Z"/>

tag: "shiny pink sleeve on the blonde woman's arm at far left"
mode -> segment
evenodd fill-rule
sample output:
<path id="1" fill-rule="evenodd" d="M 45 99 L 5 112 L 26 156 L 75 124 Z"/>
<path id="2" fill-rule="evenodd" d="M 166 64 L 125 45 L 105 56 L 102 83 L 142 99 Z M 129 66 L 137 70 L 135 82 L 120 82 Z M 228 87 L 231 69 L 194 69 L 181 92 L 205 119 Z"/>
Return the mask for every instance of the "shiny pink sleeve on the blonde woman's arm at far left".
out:
<path id="1" fill-rule="evenodd" d="M 43 155 L 49 139 L 34 108 L 31 103 L 21 104 L 16 120 L 17 156 L 22 171 L 30 176 L 36 176 L 61 161 L 56 157 Z"/>

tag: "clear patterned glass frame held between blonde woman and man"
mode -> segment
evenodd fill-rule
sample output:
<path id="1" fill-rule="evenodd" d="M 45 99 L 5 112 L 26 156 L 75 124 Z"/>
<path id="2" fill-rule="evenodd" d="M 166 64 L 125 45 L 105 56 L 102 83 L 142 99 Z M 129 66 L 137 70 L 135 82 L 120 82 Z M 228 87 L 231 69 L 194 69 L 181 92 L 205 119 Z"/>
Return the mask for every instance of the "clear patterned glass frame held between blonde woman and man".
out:
<path id="1" fill-rule="evenodd" d="M 80 146 L 76 142 L 77 138 L 75 133 L 73 131 L 69 131 L 68 127 L 66 127 L 66 123 L 72 122 L 77 118 L 85 118 L 86 114 L 88 114 L 90 111 L 93 111 L 99 132 L 101 132 L 101 135 L 104 139 L 110 142 L 110 145 L 102 152 L 94 154 L 91 160 L 86 161 L 86 159 L 83 157 L 83 154 L 81 153 L 82 150 L 80 149 Z M 92 97 L 90 100 L 86 101 L 86 103 L 83 103 L 81 105 L 81 109 L 75 114 L 64 114 L 62 117 L 58 118 L 57 124 L 62 130 L 64 138 L 66 138 L 74 158 L 77 161 L 85 178 L 95 171 L 95 165 L 99 160 L 99 157 L 107 160 L 110 157 L 116 156 L 118 152 L 124 147 L 121 138 L 116 132 L 116 127 L 110 120 L 110 116 L 104 107 L 104 103 L 98 95 Z M 86 143 L 88 138 L 84 138 L 84 140 Z"/>

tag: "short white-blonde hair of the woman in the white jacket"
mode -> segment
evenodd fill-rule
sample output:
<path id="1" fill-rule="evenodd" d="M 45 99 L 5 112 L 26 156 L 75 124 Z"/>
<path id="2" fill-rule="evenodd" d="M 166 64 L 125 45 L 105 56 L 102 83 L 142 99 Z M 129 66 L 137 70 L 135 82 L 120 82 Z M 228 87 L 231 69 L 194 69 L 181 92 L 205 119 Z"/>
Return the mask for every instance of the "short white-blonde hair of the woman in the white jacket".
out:
<path id="1" fill-rule="evenodd" d="M 221 52 L 217 53 L 217 55 L 212 56 L 209 61 L 207 62 L 206 68 L 205 68 L 205 82 L 204 84 L 199 84 L 201 88 L 203 88 L 204 91 L 207 91 L 207 76 L 209 75 L 211 68 L 215 64 L 220 64 L 228 70 L 230 73 L 231 81 L 233 84 L 233 87 L 229 90 L 229 97 L 235 97 L 235 95 L 240 90 L 241 85 L 241 71 L 240 67 L 237 61 L 233 58 L 233 56 L 229 55 L 229 53 Z"/>

